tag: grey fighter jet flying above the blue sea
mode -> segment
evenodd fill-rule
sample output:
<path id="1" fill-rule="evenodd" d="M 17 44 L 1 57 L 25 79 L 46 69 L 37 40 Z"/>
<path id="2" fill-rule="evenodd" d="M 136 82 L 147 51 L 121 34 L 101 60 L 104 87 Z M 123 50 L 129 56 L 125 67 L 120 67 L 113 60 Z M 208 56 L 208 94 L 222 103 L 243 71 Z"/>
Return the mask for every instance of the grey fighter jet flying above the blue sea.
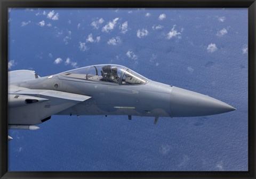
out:
<path id="1" fill-rule="evenodd" d="M 39 77 L 9 71 L 9 129 L 35 130 L 52 115 L 195 117 L 235 110 L 213 97 L 158 83 L 117 64 Z M 12 138 L 9 136 L 9 140 Z"/>

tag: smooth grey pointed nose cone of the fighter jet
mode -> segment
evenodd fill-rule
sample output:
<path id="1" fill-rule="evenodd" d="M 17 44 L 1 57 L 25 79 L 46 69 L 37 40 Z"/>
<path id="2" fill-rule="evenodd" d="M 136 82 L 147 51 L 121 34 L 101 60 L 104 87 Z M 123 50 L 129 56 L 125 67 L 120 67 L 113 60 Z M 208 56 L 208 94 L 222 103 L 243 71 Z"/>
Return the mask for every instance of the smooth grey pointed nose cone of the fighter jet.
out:
<path id="1" fill-rule="evenodd" d="M 173 117 L 193 117 L 217 115 L 234 111 L 231 105 L 200 93 L 173 87 L 171 92 L 171 111 Z"/>

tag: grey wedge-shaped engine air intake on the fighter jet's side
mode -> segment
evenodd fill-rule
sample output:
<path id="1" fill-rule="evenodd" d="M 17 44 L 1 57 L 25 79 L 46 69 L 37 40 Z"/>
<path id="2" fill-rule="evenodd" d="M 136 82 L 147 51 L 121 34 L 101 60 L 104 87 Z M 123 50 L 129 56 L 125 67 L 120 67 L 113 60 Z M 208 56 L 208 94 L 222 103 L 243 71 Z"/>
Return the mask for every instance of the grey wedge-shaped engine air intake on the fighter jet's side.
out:
<path id="1" fill-rule="evenodd" d="M 9 90 L 9 125 L 35 125 L 91 96 L 18 87 Z"/>

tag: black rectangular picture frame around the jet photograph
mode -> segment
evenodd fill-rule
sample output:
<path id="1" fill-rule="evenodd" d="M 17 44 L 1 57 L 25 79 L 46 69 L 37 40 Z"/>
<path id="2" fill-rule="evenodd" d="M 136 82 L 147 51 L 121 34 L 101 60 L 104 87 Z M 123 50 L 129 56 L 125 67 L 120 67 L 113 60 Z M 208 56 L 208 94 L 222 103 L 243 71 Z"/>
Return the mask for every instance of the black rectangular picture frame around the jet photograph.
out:
<path id="1" fill-rule="evenodd" d="M 246 7 L 249 12 L 249 171 L 248 172 L 8 172 L 7 171 L 7 21 L 8 8 L 23 7 Z M 0 0 L 1 60 L 0 60 L 0 156 L 1 178 L 256 178 L 255 167 L 255 0 Z"/>

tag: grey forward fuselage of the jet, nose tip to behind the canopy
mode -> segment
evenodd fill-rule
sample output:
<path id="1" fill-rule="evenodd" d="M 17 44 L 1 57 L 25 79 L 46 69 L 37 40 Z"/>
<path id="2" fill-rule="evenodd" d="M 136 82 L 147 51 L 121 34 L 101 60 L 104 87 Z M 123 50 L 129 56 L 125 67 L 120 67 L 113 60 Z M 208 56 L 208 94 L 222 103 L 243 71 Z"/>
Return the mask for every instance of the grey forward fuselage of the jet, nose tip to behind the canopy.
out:
<path id="1" fill-rule="evenodd" d="M 110 66 L 120 69 L 113 81 L 111 75 L 105 75 L 106 66 L 110 65 L 70 70 L 27 80 L 19 86 L 91 96 L 57 115 L 193 117 L 235 110 L 210 96 L 154 82 L 123 66 Z"/>

